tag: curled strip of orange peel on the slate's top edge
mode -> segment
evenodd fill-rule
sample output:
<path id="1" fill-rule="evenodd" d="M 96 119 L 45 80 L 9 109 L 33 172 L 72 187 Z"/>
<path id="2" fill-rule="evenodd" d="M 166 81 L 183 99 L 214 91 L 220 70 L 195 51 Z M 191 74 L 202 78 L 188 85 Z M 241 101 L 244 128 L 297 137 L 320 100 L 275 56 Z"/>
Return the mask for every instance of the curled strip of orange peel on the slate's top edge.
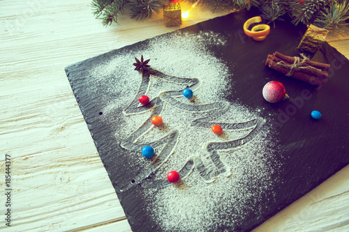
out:
<path id="1" fill-rule="evenodd" d="M 267 35 L 269 35 L 270 32 L 270 26 L 267 24 L 258 24 L 256 26 L 253 26 L 253 28 L 248 30 L 248 26 L 254 23 L 262 22 L 262 19 L 259 16 L 251 17 L 251 19 L 247 20 L 244 23 L 244 32 L 247 36 L 250 36 L 253 38 L 253 40 L 262 41 L 267 38 Z"/>

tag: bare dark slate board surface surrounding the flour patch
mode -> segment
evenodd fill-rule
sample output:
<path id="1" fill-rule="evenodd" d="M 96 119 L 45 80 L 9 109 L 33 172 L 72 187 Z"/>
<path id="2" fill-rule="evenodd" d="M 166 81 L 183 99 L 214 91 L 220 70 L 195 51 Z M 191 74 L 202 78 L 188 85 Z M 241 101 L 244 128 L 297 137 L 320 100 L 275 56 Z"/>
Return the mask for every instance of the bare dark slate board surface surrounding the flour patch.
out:
<path id="1" fill-rule="evenodd" d="M 245 217 L 238 219 L 239 222 L 218 224 L 212 231 L 249 231 L 349 164 L 348 59 L 325 42 L 313 61 L 332 65 L 328 82 L 315 88 L 285 77 L 265 67 L 267 54 L 278 51 L 297 56 L 295 47 L 306 28 L 292 26 L 289 22 L 277 22 L 276 28 L 272 28 L 265 41 L 256 42 L 244 36 L 242 31 L 244 22 L 255 15 L 257 13 L 244 11 L 232 13 L 180 30 L 190 33 L 214 31 L 228 38 L 223 49 L 212 48 L 210 51 L 227 63 L 234 61 L 240 64 L 229 66 L 230 71 L 239 78 L 235 79 L 234 91 L 229 88 L 225 90 L 225 100 L 234 102 L 239 96 L 239 102 L 246 107 L 265 109 L 261 114 L 272 117 L 277 134 L 274 146 L 282 154 L 274 157 L 283 164 L 282 169 L 274 173 L 281 181 L 272 186 L 273 191 L 266 190 L 265 196 L 258 200 L 258 204 L 264 206 L 265 210 L 259 215 L 244 212 Z M 120 191 L 118 180 L 123 178 L 122 173 L 127 173 L 132 168 L 132 164 L 126 163 L 122 158 L 129 155 L 129 152 L 119 146 L 120 141 L 115 141 L 115 125 L 108 125 L 101 120 L 105 115 L 100 112 L 108 104 L 105 98 L 101 98 L 105 84 L 94 86 L 97 91 L 87 91 L 91 88 L 87 86 L 87 79 L 94 78 L 89 75 L 89 70 L 95 63 L 103 63 L 117 54 L 136 51 L 147 43 L 149 40 L 138 42 L 66 68 L 75 98 L 133 231 L 161 231 L 161 227 L 151 215 L 147 215 L 147 201 L 142 198 L 143 189 L 140 185 Z M 289 100 L 273 105 L 262 98 L 263 86 L 272 80 L 286 86 L 287 93 L 291 96 Z M 107 98 L 112 100 L 118 94 Z M 314 109 L 322 113 L 320 121 L 311 118 L 310 113 Z M 122 113 L 119 111 L 115 114 Z"/>

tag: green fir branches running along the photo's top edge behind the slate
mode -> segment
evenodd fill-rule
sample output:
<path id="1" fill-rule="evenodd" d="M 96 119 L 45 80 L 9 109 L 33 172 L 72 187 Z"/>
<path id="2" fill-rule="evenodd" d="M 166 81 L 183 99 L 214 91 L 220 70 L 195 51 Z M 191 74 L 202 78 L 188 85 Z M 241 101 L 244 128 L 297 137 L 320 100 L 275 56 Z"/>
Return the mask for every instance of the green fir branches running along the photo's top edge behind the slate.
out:
<path id="1" fill-rule="evenodd" d="M 131 17 L 136 20 L 151 17 L 153 13 L 160 13 L 161 8 L 170 0 L 92 0 L 96 18 L 107 26 L 117 22 L 120 15 L 127 9 Z M 196 0 L 184 0 L 195 3 Z M 240 10 L 258 7 L 262 10 L 262 17 L 274 23 L 283 20 L 288 14 L 292 23 L 297 25 L 315 24 L 324 29 L 339 29 L 349 19 L 349 0 L 200 0 L 200 4 L 215 10 Z"/>

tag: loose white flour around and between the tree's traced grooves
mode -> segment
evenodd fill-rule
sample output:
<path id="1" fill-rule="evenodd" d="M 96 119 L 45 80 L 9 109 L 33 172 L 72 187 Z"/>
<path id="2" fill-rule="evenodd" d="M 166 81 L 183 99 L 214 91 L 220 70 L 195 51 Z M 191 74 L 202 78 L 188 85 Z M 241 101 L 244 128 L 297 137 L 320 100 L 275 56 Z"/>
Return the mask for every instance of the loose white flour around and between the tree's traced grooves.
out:
<path id="1" fill-rule="evenodd" d="M 110 61 L 103 62 L 91 70 L 90 82 L 105 82 L 103 95 L 110 104 L 103 109 L 105 120 L 113 125 L 115 142 L 123 140 L 129 134 L 142 127 L 151 116 L 151 111 L 140 114 L 120 114 L 130 105 L 137 94 L 142 74 L 133 70 L 135 57 L 150 59 L 151 68 L 175 77 L 198 79 L 200 84 L 193 89 L 194 98 L 177 98 L 190 105 L 204 105 L 212 102 L 225 102 L 224 91 L 228 84 L 234 83 L 234 74 L 228 72 L 224 61 L 208 52 L 207 46 L 221 47 L 225 38 L 210 31 L 200 33 L 177 32 L 149 40 L 147 46 L 139 46 L 127 53 L 117 54 Z M 229 80 L 229 81 L 228 81 Z M 231 88 L 232 87 L 232 88 Z M 175 82 L 151 76 L 147 93 L 152 100 L 165 91 L 180 91 L 185 86 Z M 233 86 L 229 86 L 233 89 Z M 98 91 L 91 89 L 91 91 Z M 218 104 L 218 103 L 217 103 Z M 151 127 L 137 143 L 147 144 L 163 138 L 172 130 L 179 131 L 177 144 L 173 152 L 158 168 L 154 180 L 163 180 L 169 171 L 179 170 L 190 159 L 200 157 L 205 166 L 211 165 L 206 146 L 209 142 L 232 141 L 246 137 L 253 128 L 227 130 L 217 136 L 209 128 L 193 127 L 191 123 L 210 112 L 191 112 L 164 104 L 161 116 L 164 124 Z M 239 102 L 230 102 L 228 111 L 216 118 L 214 123 L 243 123 L 261 118 L 260 109 L 248 109 Z M 231 148 L 218 150 L 221 161 L 230 168 L 230 172 L 221 173 L 211 183 L 203 180 L 197 169 L 177 184 L 161 188 L 145 188 L 144 201 L 149 215 L 163 231 L 216 231 L 221 228 L 244 228 L 245 217 L 258 218 L 267 206 L 265 192 L 272 189 L 274 164 L 272 137 L 268 118 L 262 118 L 265 124 L 252 141 Z M 146 169 L 144 158 L 133 157 L 130 167 Z M 272 201 L 272 199 L 270 199 Z M 228 230 L 229 231 L 229 230 Z"/>

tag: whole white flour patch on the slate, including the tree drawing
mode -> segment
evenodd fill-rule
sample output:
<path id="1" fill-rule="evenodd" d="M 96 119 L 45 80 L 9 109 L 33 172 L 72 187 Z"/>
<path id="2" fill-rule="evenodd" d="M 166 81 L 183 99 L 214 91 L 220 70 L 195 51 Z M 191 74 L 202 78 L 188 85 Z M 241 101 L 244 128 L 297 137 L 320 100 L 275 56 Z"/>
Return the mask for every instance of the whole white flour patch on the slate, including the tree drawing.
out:
<path id="1" fill-rule="evenodd" d="M 144 187 L 147 211 L 164 231 L 214 231 L 238 224 L 246 211 L 258 217 L 264 210 L 258 202 L 276 181 L 271 178 L 274 150 L 268 119 L 257 109 L 223 99 L 234 75 L 207 46 L 224 44 L 220 34 L 178 32 L 115 55 L 91 71 L 96 77 L 91 82 L 107 83 L 110 104 L 103 115 L 113 125 L 115 142 L 138 153 L 146 144 L 156 147 L 158 158 L 133 157 L 130 168 L 142 170 L 121 190 Z M 134 57 L 141 54 L 150 59 L 149 77 L 133 70 Z M 181 96 L 186 86 L 193 99 Z M 152 107 L 137 102 L 143 94 Z M 117 111 L 124 114 L 114 116 Z M 161 115 L 163 125 L 151 125 L 153 115 Z M 211 132 L 213 123 L 223 125 L 221 136 Z M 180 183 L 166 180 L 172 170 L 184 174 Z"/>

